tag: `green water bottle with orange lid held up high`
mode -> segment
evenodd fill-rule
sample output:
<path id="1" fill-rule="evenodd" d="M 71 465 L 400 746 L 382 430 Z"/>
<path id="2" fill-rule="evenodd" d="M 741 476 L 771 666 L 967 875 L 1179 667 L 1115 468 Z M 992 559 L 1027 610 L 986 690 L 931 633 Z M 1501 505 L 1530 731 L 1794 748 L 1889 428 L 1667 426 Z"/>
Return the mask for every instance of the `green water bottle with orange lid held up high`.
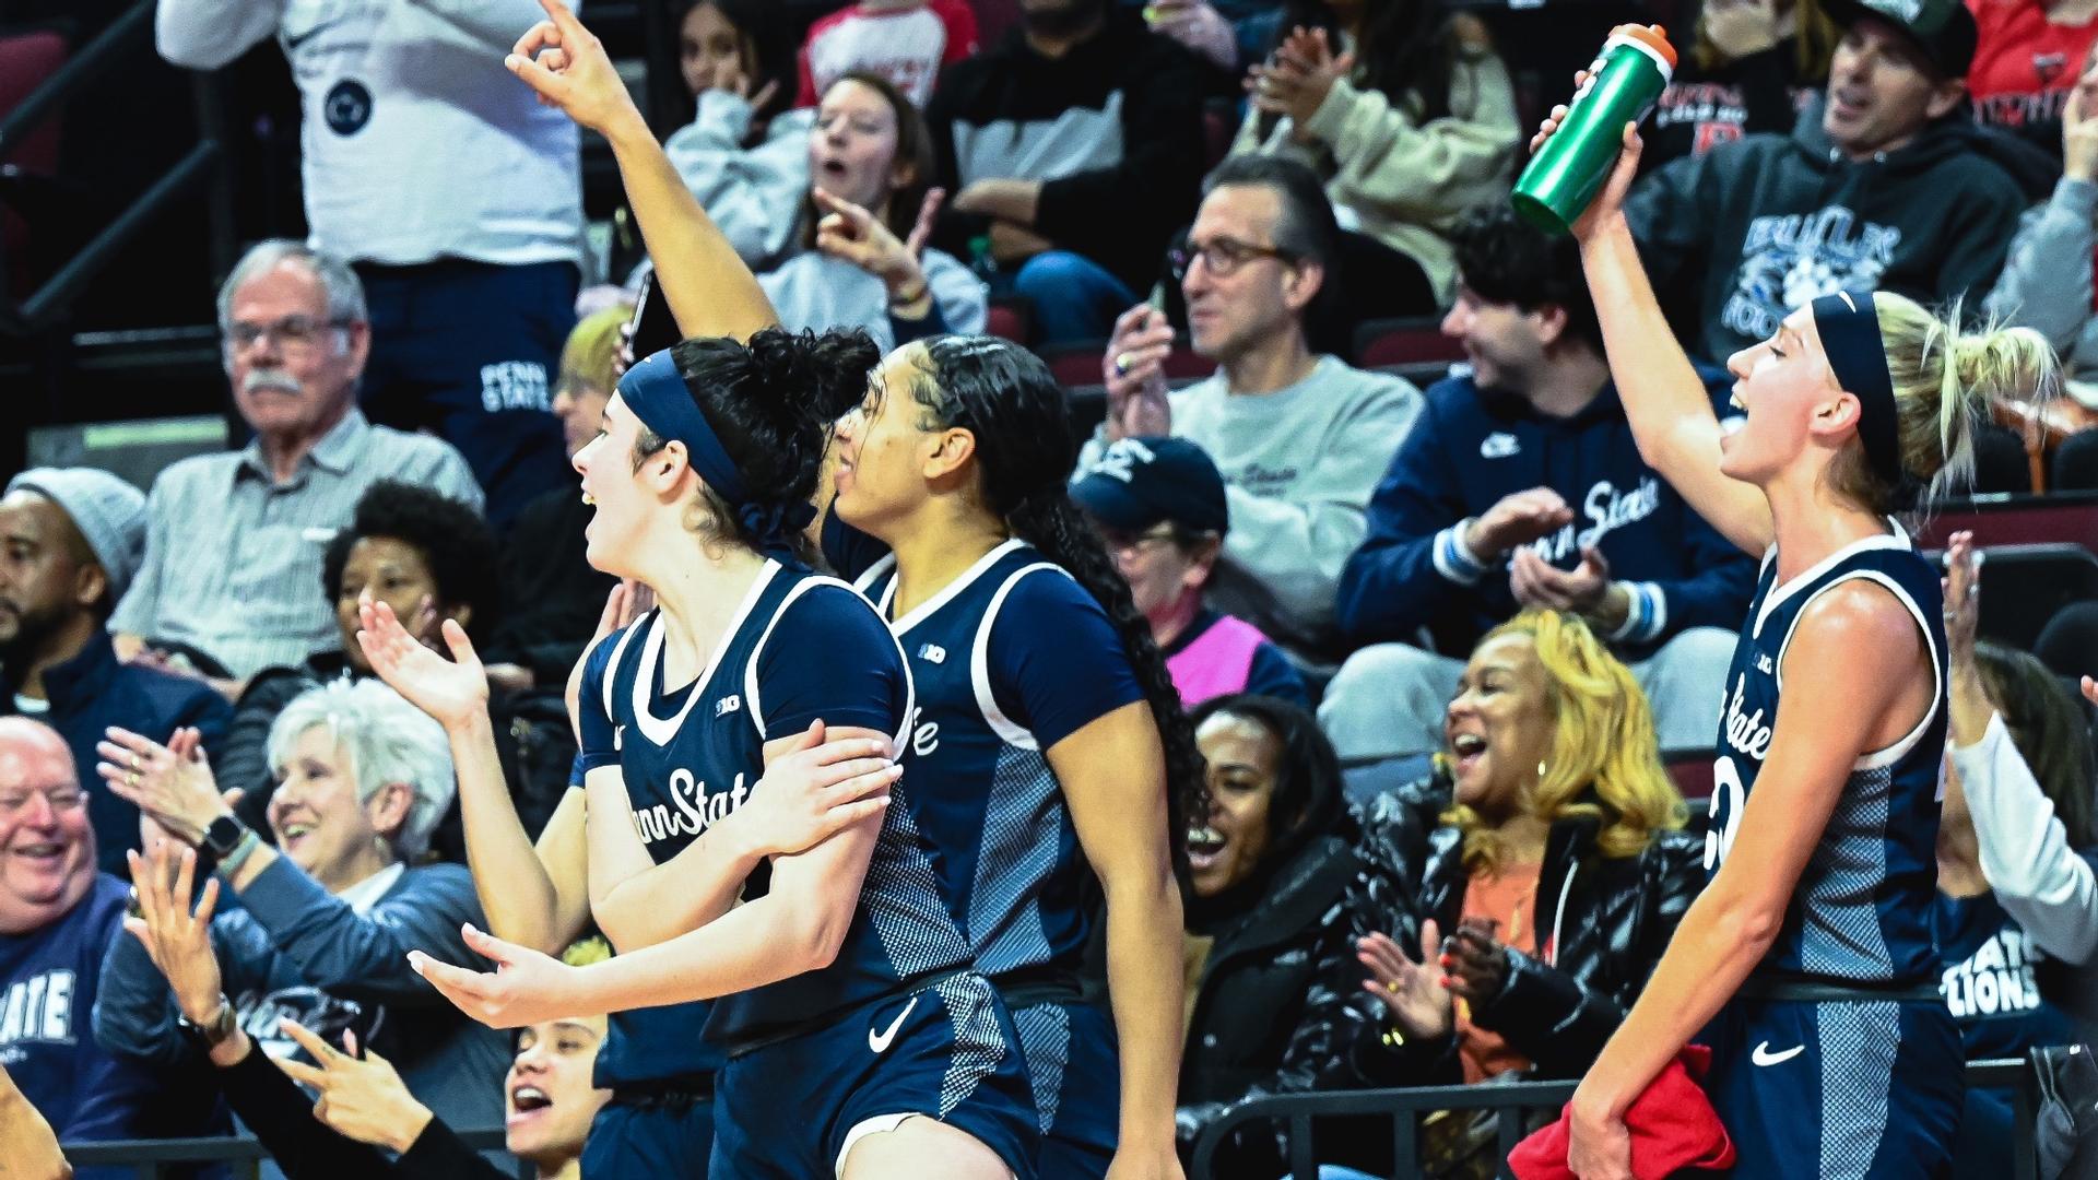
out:
<path id="1" fill-rule="evenodd" d="M 1647 118 L 1668 88 L 1676 48 L 1660 25 L 1618 25 L 1601 63 L 1515 183 L 1515 212 L 1546 233 L 1569 233 L 1603 189 L 1624 149 L 1624 124 Z"/>

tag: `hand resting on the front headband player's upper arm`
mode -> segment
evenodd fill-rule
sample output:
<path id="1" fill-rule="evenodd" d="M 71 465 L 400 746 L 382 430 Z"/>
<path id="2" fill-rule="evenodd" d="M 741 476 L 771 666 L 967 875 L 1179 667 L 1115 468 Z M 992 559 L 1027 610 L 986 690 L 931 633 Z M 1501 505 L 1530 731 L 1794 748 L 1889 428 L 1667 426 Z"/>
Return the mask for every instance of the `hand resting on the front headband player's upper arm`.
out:
<path id="1" fill-rule="evenodd" d="M 890 743 L 825 737 L 822 720 L 810 724 L 766 762 L 757 789 L 730 813 L 730 827 L 753 855 L 791 857 L 890 806 L 890 787 L 904 773 Z"/>

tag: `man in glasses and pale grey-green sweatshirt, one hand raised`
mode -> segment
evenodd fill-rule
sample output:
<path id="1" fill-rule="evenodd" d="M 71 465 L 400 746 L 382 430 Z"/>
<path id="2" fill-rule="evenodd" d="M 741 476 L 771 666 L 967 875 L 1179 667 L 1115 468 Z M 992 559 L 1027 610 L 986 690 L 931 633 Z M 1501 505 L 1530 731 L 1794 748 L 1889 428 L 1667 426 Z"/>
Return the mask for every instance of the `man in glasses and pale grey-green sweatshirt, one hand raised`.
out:
<path id="1" fill-rule="evenodd" d="M 1078 464 L 1083 475 L 1108 443 L 1150 435 L 1208 451 L 1232 514 L 1211 600 L 1313 657 L 1334 647 L 1334 586 L 1368 527 L 1370 489 L 1420 412 L 1410 382 L 1322 357 L 1305 338 L 1336 239 L 1307 166 L 1225 160 L 1173 258 L 1194 351 L 1217 376 L 1169 393 L 1164 313 L 1122 313 L 1104 359 L 1108 422 Z"/>

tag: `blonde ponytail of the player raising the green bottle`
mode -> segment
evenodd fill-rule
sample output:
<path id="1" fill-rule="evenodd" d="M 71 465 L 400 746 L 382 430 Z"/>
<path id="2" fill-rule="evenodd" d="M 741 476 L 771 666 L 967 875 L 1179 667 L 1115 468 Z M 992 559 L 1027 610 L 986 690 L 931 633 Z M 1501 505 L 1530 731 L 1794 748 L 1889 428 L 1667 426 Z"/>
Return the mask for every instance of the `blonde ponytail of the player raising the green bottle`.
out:
<path id="1" fill-rule="evenodd" d="M 1871 296 L 1880 344 L 1894 380 L 1901 466 L 1922 506 L 1974 479 L 1974 435 L 1997 401 L 2043 401 L 2060 391 L 2060 363 L 2031 328 L 1960 330 L 1960 304 L 1943 317 L 1892 292 Z M 1874 477 L 1863 447 L 1829 470 L 1836 487 L 1874 512 L 1909 508 L 1901 489 Z"/>

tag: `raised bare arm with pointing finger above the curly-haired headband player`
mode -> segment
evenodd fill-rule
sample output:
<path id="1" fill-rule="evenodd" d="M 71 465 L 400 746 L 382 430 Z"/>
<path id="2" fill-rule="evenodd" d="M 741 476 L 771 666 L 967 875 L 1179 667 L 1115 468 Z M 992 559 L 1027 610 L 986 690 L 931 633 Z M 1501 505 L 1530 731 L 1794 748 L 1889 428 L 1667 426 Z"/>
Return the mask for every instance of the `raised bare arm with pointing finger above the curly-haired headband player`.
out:
<path id="1" fill-rule="evenodd" d="M 560 0 L 539 4 L 548 19 L 518 40 L 504 65 L 537 90 L 541 103 L 562 109 L 613 145 L 678 330 L 749 340 L 753 332 L 776 325 L 772 300 L 686 189 L 634 107 L 604 44 Z"/>

